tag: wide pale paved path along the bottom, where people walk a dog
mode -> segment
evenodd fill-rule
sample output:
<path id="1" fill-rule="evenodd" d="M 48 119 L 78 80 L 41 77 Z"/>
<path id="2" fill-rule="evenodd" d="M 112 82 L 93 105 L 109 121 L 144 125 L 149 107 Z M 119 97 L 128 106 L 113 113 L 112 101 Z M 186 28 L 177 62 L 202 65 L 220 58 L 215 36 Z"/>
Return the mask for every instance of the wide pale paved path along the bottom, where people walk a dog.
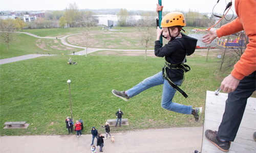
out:
<path id="1" fill-rule="evenodd" d="M 103 152 L 179 152 L 200 151 L 203 127 L 182 127 L 113 133 L 115 143 L 104 140 Z M 4 136 L 0 152 L 92 152 L 92 135 Z M 96 139 L 94 140 L 96 144 Z M 99 147 L 97 147 L 99 152 Z"/>

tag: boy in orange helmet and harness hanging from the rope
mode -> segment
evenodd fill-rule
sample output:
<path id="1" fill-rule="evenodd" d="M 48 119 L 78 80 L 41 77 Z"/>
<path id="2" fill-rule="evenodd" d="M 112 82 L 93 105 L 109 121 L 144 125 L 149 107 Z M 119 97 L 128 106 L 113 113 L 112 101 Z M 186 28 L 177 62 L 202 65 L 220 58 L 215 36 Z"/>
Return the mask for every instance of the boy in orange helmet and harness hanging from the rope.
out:
<path id="1" fill-rule="evenodd" d="M 162 10 L 162 6 L 157 5 L 157 11 Z M 192 108 L 173 102 L 173 97 L 176 90 L 179 91 L 185 98 L 187 94 L 179 88 L 183 82 L 184 71 L 190 70 L 190 67 L 183 64 L 186 55 L 191 55 L 195 52 L 197 39 L 188 37 L 180 31 L 184 27 L 185 19 L 182 13 L 172 12 L 166 14 L 161 21 L 161 28 L 157 27 L 157 40 L 155 41 L 155 55 L 157 57 L 165 57 L 165 66 L 162 71 L 149 77 L 138 85 L 127 91 L 112 90 L 115 96 L 118 96 L 125 101 L 141 93 L 142 91 L 163 84 L 161 106 L 169 111 L 193 114 L 196 121 L 199 121 L 202 115 L 202 107 Z M 169 42 L 162 47 L 160 43 L 161 34 Z"/>

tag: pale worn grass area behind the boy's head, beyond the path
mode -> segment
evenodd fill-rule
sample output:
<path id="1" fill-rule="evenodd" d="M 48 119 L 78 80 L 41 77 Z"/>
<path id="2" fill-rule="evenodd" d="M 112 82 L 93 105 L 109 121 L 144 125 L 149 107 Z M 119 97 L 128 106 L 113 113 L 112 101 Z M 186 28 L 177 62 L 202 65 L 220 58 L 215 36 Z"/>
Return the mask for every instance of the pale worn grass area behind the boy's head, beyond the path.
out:
<path id="1" fill-rule="evenodd" d="M 117 27 L 119 30 L 121 27 Z M 90 44 L 89 47 L 93 48 L 109 48 L 109 49 L 145 49 L 144 46 L 140 44 L 140 33 L 138 29 L 135 27 L 123 27 L 122 31 L 99 31 L 90 36 Z M 184 27 L 186 33 L 188 35 L 189 31 L 192 32 L 196 27 Z M 203 29 L 202 27 L 199 27 Z M 152 28 L 155 30 L 155 28 Z M 203 33 L 203 32 L 202 32 Z M 151 46 L 147 49 L 154 49 L 155 45 L 155 36 L 153 36 L 153 40 L 150 41 Z M 84 42 L 81 42 L 82 35 L 75 35 L 66 38 L 70 44 L 84 46 Z M 166 39 L 163 39 L 164 43 L 168 43 Z"/>

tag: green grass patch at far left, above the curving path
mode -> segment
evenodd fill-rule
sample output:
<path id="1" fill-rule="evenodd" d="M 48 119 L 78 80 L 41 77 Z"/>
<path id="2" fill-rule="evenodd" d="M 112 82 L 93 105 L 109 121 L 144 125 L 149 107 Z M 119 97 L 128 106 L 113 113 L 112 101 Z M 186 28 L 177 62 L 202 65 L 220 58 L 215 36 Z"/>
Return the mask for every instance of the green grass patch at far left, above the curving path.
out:
<path id="1" fill-rule="evenodd" d="M 17 57 L 17 56 L 22 56 L 22 55 L 28 55 L 28 54 L 69 54 L 71 53 L 71 50 L 65 50 L 63 47 L 60 49 L 54 49 L 51 46 L 53 45 L 59 45 L 60 40 L 58 39 L 59 43 L 54 43 L 53 39 L 41 39 L 45 42 L 45 48 L 48 50 L 44 50 L 39 48 L 36 43 L 38 44 L 39 42 L 36 42 L 38 38 L 26 35 L 26 34 L 19 34 L 19 33 L 14 33 L 13 36 L 15 37 L 15 41 L 11 42 L 9 47 L 10 50 L 7 50 L 7 44 L 1 42 L 0 43 L 0 59 L 6 59 L 6 58 L 11 58 L 11 57 Z M 83 49 L 80 48 L 73 48 L 75 51 L 80 51 Z"/>

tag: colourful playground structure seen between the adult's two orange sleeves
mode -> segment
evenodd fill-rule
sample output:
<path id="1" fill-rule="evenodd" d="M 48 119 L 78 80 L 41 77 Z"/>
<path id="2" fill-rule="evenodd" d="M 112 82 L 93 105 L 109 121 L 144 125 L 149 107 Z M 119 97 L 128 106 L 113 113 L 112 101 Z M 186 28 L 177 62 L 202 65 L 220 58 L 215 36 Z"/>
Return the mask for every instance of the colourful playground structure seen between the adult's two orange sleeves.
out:
<path id="1" fill-rule="evenodd" d="M 223 41 L 223 38 L 219 38 L 217 45 L 222 47 L 231 47 L 231 48 L 238 48 L 238 47 L 245 47 L 245 39 L 240 39 L 240 36 L 234 40 L 227 40 Z"/>

